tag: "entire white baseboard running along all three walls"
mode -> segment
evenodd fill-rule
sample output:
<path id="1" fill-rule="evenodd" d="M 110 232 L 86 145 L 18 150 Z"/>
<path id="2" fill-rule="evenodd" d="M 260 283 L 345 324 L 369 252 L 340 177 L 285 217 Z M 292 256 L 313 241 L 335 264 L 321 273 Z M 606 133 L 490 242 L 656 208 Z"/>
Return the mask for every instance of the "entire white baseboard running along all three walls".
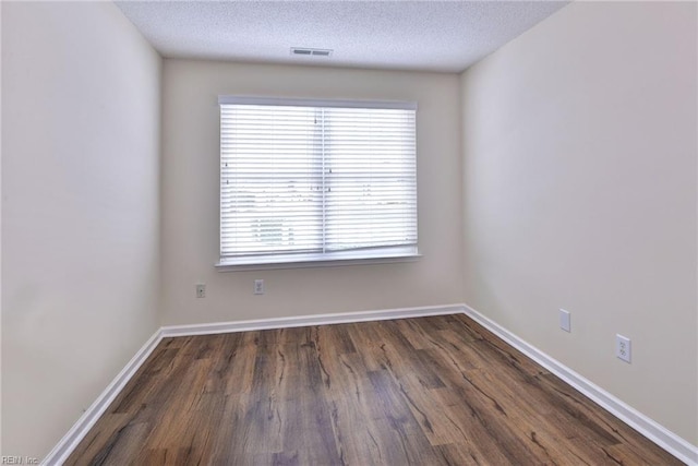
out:
<path id="1" fill-rule="evenodd" d="M 569 385 L 583 393 L 598 405 L 623 420 L 642 435 L 657 443 L 669 453 L 683 461 L 687 465 L 698 465 L 698 447 L 690 444 L 663 426 L 653 421 L 643 414 L 637 411 L 631 406 L 611 395 L 600 386 L 579 375 L 559 361 L 547 356 L 545 353 L 517 337 L 497 323 L 485 318 L 474 309 L 466 304 L 432 306 L 421 308 L 387 309 L 381 311 L 347 312 L 339 314 L 302 315 L 278 319 L 263 319 L 238 322 L 220 322 L 209 324 L 193 325 L 169 325 L 160 327 L 129 361 L 123 370 L 115 378 L 99 397 L 92 404 L 83 416 L 75 422 L 73 428 L 61 439 L 51 450 L 48 456 L 41 462 L 45 465 L 60 465 L 84 439 L 97 419 L 113 402 L 119 392 L 129 380 L 135 374 L 139 368 L 145 362 L 155 347 L 165 337 L 208 335 L 216 333 L 248 332 L 267 328 L 289 328 L 308 325 L 327 325 L 351 322 L 382 321 L 389 319 L 409 319 L 428 315 L 446 315 L 465 313 L 472 320 L 494 333 L 496 336 L 561 378 Z"/>

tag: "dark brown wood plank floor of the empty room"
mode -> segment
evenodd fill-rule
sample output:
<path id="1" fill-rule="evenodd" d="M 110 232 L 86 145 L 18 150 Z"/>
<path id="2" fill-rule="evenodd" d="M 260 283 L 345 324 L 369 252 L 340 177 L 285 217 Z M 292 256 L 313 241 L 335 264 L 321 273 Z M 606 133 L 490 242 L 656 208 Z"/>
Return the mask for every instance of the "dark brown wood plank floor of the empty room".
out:
<path id="1" fill-rule="evenodd" d="M 75 465 L 678 465 L 465 315 L 166 338 Z"/>

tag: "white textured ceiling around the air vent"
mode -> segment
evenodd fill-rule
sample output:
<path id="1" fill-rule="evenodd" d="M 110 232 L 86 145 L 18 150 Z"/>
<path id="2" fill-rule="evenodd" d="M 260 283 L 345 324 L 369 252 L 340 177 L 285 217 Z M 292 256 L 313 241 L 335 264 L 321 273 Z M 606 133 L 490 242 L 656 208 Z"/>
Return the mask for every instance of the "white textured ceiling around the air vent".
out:
<path id="1" fill-rule="evenodd" d="M 164 57 L 458 72 L 562 1 L 117 1 Z M 299 57 L 291 47 L 332 49 Z"/>

